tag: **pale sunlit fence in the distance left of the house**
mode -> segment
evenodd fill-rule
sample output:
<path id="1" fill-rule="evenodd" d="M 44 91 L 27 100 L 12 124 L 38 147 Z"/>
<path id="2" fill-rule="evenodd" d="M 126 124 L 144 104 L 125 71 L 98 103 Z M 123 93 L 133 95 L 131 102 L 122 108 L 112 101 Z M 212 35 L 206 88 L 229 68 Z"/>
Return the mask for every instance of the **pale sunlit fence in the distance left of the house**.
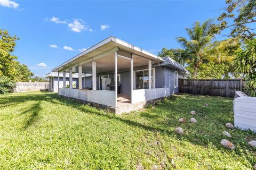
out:
<path id="1" fill-rule="evenodd" d="M 17 82 L 14 92 L 48 90 L 49 82 Z"/>

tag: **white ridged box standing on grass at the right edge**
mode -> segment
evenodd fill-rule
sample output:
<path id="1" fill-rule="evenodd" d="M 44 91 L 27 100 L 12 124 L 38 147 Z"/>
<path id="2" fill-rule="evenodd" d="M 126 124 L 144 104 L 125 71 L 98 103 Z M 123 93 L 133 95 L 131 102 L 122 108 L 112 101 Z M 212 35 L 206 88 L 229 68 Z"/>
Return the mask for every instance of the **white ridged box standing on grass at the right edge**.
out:
<path id="1" fill-rule="evenodd" d="M 236 91 L 233 104 L 235 126 L 256 132 L 256 97 L 249 97 L 241 91 Z"/>

